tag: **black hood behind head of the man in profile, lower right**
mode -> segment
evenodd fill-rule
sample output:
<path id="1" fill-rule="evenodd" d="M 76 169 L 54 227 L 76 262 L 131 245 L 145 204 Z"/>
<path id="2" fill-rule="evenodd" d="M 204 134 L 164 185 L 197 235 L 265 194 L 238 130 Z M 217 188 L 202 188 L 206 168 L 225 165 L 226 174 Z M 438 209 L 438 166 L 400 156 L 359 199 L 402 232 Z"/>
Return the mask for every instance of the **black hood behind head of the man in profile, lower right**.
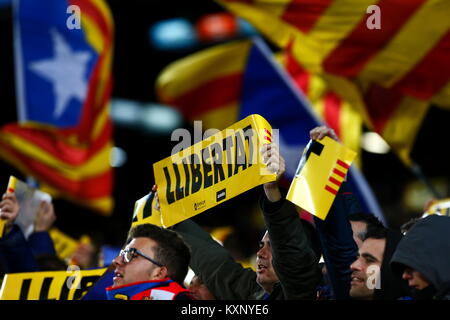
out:
<path id="1" fill-rule="evenodd" d="M 386 236 L 386 246 L 384 248 L 383 263 L 381 264 L 381 284 L 380 289 L 375 289 L 376 300 L 396 300 L 409 296 L 409 288 L 406 280 L 396 277 L 392 272 L 390 261 L 402 239 L 402 234 L 398 231 L 388 230 Z"/>

